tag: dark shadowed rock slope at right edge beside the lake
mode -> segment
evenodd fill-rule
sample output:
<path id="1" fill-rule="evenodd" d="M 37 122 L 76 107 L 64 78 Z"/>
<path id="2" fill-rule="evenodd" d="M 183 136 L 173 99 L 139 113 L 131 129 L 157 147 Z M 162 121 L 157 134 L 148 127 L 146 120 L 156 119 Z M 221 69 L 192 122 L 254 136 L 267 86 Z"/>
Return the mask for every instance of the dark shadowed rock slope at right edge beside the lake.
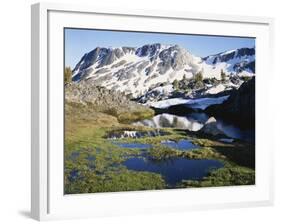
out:
<path id="1" fill-rule="evenodd" d="M 220 116 L 235 122 L 240 127 L 255 127 L 255 77 L 244 82 L 238 90 L 220 105 L 212 105 L 206 109 L 211 115 Z"/>

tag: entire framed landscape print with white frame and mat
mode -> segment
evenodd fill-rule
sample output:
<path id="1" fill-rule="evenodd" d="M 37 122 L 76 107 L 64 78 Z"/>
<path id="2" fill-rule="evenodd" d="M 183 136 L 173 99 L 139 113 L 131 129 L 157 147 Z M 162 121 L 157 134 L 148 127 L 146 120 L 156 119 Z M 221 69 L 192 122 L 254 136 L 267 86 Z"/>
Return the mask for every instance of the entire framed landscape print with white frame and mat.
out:
<path id="1" fill-rule="evenodd" d="M 32 217 L 269 205 L 270 18 L 32 6 Z"/>

